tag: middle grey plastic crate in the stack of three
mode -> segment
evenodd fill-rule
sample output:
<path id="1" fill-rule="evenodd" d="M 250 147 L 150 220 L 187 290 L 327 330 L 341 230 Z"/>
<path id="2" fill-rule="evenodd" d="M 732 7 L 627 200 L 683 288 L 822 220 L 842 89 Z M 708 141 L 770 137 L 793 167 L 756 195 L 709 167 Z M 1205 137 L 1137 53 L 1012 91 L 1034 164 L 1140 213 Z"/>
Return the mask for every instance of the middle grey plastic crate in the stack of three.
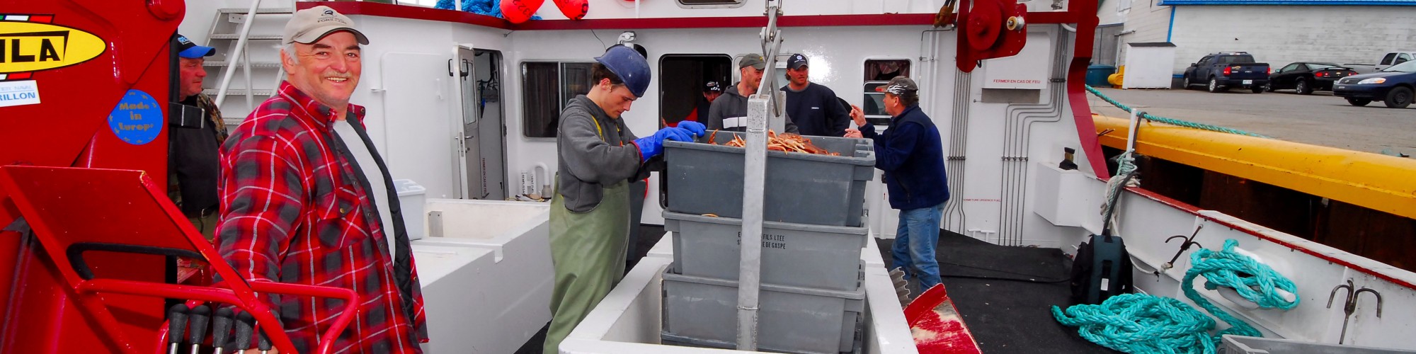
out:
<path id="1" fill-rule="evenodd" d="M 680 275 L 738 280 L 742 219 L 664 211 L 674 232 L 674 270 Z M 865 227 L 762 222 L 762 282 L 828 290 L 860 287 Z"/>

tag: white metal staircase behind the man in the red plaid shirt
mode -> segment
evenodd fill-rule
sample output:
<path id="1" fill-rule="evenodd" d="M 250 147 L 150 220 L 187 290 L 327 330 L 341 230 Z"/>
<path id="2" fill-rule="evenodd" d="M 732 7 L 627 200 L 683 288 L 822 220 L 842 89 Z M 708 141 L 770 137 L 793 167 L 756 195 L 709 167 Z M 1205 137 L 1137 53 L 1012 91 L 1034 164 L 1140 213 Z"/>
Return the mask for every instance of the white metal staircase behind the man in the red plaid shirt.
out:
<path id="1" fill-rule="evenodd" d="M 295 14 L 295 0 L 266 3 L 268 7 L 262 7 L 261 0 L 252 0 L 248 8 L 217 10 L 207 35 L 207 47 L 217 48 L 217 55 L 208 58 L 204 67 L 208 76 L 215 78 L 211 74 L 217 74 L 221 79 L 208 79 L 215 86 L 202 89 L 202 93 L 212 96 L 228 126 L 245 120 L 251 110 L 275 93 L 285 78 L 285 68 L 280 67 L 280 31 Z"/>

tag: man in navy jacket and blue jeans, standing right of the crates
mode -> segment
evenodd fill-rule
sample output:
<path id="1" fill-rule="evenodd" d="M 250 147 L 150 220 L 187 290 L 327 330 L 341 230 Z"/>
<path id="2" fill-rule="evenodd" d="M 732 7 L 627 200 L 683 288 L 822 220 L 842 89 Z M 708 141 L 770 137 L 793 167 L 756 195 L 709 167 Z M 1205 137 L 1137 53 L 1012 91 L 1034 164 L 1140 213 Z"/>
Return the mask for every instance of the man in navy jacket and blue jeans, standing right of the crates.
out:
<path id="1" fill-rule="evenodd" d="M 944 177 L 944 149 L 939 127 L 919 109 L 919 85 L 906 76 L 895 76 L 885 92 L 885 112 L 891 115 L 889 129 L 877 133 L 865 122 L 865 113 L 851 110 L 860 130 L 847 129 L 847 137 L 875 139 L 875 169 L 885 171 L 889 207 L 899 210 L 899 229 L 891 246 L 891 269 L 903 268 L 919 280 L 919 289 L 939 283 L 939 221 L 944 201 L 949 201 L 949 178 Z"/>

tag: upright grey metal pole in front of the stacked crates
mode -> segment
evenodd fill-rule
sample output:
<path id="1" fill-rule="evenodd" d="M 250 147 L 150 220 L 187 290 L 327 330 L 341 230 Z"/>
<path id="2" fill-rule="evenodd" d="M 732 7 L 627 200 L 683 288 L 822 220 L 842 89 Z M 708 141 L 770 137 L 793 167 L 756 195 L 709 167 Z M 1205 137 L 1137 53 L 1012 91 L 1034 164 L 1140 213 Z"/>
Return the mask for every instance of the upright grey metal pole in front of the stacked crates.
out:
<path id="1" fill-rule="evenodd" d="M 758 295 L 762 286 L 762 202 L 767 176 L 767 119 L 775 116 L 777 0 L 767 0 L 767 27 L 762 28 L 767 69 L 756 95 L 748 98 L 748 133 L 742 174 L 742 242 L 738 268 L 738 350 L 758 350 Z"/>

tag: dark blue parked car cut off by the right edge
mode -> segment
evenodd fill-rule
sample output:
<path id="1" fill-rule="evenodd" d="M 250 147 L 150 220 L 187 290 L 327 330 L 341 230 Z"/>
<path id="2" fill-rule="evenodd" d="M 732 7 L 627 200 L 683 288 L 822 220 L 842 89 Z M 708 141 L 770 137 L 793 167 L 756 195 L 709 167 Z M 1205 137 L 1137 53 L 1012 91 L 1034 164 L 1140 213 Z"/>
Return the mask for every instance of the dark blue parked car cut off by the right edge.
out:
<path id="1" fill-rule="evenodd" d="M 1347 103 L 1365 106 L 1382 101 L 1389 108 L 1406 108 L 1416 88 L 1416 61 L 1408 61 L 1372 74 L 1342 78 L 1332 95 L 1347 98 Z"/>

